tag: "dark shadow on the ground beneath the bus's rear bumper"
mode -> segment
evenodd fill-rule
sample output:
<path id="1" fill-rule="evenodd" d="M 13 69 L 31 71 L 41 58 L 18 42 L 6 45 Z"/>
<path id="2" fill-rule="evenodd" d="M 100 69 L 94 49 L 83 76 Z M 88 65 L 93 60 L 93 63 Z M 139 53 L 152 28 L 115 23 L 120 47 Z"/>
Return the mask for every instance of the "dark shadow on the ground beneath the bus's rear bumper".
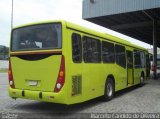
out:
<path id="1" fill-rule="evenodd" d="M 33 101 L 30 103 L 21 103 L 15 107 L 12 107 L 12 109 L 16 110 L 23 110 L 26 112 L 32 112 L 32 113 L 79 113 L 83 111 L 84 109 L 96 106 L 100 103 L 103 103 L 100 101 L 100 98 L 96 98 L 90 101 L 86 101 L 79 104 L 73 104 L 73 105 L 63 105 L 63 104 L 56 104 L 56 103 L 49 103 L 49 102 L 38 102 Z"/>

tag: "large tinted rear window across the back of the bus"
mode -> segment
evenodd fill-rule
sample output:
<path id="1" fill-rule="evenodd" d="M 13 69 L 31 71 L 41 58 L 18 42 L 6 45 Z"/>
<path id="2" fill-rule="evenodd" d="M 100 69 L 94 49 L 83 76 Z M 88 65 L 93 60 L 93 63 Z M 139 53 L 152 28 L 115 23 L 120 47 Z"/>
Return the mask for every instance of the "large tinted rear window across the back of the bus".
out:
<path id="1" fill-rule="evenodd" d="M 14 29 L 11 51 L 60 49 L 62 26 L 60 23 L 39 24 Z"/>

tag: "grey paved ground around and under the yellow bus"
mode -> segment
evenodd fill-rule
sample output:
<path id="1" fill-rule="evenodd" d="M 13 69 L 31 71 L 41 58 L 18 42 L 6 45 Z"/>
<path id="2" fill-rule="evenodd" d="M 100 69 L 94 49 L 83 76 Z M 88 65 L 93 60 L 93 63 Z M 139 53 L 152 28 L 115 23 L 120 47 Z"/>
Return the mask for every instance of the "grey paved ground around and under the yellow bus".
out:
<path id="1" fill-rule="evenodd" d="M 104 102 L 101 98 L 81 104 L 61 105 L 33 100 L 13 100 L 7 92 L 8 79 L 6 73 L 0 73 L 0 113 L 18 113 L 37 118 L 69 117 L 75 113 L 81 116 L 85 113 L 160 113 L 160 80 L 149 80 L 142 87 L 133 87 L 120 91 L 115 97 Z M 87 115 L 86 115 L 87 116 Z M 24 116 L 26 117 L 26 115 Z"/>

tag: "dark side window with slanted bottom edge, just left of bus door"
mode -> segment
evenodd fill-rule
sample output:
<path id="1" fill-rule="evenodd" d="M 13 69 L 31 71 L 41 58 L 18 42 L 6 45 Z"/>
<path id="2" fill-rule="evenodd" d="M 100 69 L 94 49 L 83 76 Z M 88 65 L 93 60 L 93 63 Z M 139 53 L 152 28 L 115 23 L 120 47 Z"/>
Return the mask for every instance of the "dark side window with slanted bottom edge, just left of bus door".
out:
<path id="1" fill-rule="evenodd" d="M 120 45 L 115 45 L 116 52 L 116 63 L 123 68 L 126 68 L 126 55 L 125 55 L 125 47 Z"/>

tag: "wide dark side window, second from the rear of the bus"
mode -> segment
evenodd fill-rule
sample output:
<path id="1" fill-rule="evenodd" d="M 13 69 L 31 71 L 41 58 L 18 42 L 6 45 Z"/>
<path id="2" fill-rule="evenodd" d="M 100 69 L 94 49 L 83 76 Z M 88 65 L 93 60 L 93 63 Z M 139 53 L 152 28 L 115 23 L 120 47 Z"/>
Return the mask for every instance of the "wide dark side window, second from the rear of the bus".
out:
<path id="1" fill-rule="evenodd" d="M 98 39 L 83 37 L 84 62 L 101 62 L 101 42 Z"/>

